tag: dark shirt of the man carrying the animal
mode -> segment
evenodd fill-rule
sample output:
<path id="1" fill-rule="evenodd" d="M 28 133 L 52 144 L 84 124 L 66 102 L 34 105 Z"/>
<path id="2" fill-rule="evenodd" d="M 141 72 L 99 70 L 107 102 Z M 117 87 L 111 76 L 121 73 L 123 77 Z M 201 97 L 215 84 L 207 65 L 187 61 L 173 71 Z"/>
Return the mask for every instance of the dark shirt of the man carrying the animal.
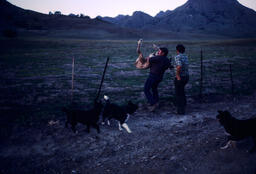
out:
<path id="1" fill-rule="evenodd" d="M 155 56 L 149 58 L 150 74 L 163 77 L 164 72 L 170 66 L 170 61 L 166 56 Z"/>

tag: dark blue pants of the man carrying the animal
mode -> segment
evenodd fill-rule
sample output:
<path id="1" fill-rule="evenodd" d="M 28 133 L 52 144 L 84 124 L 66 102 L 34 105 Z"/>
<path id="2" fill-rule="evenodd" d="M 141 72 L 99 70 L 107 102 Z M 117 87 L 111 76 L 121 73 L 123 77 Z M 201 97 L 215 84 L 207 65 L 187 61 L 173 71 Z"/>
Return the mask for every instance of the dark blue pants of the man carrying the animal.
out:
<path id="1" fill-rule="evenodd" d="M 148 79 L 145 82 L 144 93 L 150 105 L 156 104 L 159 100 L 157 87 L 161 81 L 162 77 L 149 74 Z"/>

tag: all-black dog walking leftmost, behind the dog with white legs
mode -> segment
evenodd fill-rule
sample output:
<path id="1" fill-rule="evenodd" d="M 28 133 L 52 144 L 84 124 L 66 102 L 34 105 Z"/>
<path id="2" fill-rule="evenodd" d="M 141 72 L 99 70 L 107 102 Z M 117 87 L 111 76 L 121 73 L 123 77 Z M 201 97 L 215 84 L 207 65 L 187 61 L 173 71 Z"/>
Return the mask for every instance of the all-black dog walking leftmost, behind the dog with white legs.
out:
<path id="1" fill-rule="evenodd" d="M 77 123 L 82 123 L 87 126 L 87 132 L 90 132 L 90 126 L 92 126 L 97 129 L 98 133 L 100 133 L 98 121 L 100 118 L 102 107 L 103 105 L 101 102 L 95 102 L 94 107 L 90 110 L 75 110 L 63 108 L 62 111 L 67 114 L 65 126 L 68 127 L 68 123 L 71 124 L 72 130 L 74 131 L 74 133 L 77 133 L 76 125 Z"/>

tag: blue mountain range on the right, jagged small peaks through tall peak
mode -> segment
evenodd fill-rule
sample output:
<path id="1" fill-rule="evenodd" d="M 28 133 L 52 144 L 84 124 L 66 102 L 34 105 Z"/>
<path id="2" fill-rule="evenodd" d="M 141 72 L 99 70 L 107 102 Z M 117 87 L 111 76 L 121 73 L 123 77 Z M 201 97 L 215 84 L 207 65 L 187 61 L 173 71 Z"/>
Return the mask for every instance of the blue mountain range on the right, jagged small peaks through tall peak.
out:
<path id="1" fill-rule="evenodd" d="M 188 0 L 175 10 L 161 11 L 155 17 L 135 12 L 132 16 L 111 20 L 109 22 L 122 27 L 154 31 L 256 36 L 256 12 L 237 0 Z"/>

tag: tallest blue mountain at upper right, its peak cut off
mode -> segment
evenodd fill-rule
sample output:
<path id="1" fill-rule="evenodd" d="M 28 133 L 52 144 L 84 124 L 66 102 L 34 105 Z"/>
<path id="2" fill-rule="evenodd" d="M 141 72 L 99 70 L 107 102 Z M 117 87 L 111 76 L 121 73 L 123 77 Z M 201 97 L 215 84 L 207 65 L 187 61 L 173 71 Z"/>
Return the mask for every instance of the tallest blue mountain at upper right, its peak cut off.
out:
<path id="1" fill-rule="evenodd" d="M 178 32 L 256 34 L 256 12 L 237 0 L 188 0 L 156 25 Z"/>

